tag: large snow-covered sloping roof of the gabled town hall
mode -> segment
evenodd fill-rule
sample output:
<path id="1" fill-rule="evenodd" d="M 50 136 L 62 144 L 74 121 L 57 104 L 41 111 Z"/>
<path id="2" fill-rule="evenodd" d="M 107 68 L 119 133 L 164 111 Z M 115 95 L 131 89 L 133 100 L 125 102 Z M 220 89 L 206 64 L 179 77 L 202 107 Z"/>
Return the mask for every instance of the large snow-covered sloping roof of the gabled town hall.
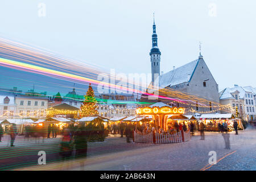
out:
<path id="1" fill-rule="evenodd" d="M 184 82 L 188 82 L 191 79 L 194 70 L 196 69 L 196 65 L 198 61 L 199 59 L 194 60 L 170 72 L 160 75 L 159 76 L 160 88 L 165 88 L 167 86 L 173 86 L 173 85 L 182 84 Z"/>

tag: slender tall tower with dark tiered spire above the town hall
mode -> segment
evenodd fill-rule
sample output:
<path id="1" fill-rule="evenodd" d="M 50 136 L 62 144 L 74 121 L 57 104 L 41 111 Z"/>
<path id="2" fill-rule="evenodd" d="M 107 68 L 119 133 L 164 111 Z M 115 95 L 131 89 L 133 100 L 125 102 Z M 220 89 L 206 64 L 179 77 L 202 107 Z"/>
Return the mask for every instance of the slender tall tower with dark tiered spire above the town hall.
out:
<path id="1" fill-rule="evenodd" d="M 160 75 L 160 55 L 161 55 L 161 52 L 159 51 L 159 48 L 158 48 L 158 35 L 156 34 L 156 30 L 155 30 L 155 17 L 154 17 L 152 48 L 150 50 L 152 83 L 155 82 L 155 78 L 157 78 Z"/>

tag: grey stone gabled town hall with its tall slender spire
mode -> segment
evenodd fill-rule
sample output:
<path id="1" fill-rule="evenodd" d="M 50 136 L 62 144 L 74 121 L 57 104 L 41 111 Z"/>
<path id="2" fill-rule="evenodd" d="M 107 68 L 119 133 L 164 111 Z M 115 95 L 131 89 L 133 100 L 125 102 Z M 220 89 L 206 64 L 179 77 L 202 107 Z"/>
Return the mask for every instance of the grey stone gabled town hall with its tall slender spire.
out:
<path id="1" fill-rule="evenodd" d="M 164 100 L 162 98 L 150 100 L 148 98 L 149 96 L 147 95 L 143 95 L 141 101 L 162 101 L 166 104 L 184 106 L 188 108 L 186 109 L 186 114 L 219 112 L 218 106 L 220 100 L 218 94 L 218 84 L 207 67 L 203 56 L 201 55 L 201 51 L 198 59 L 193 60 L 179 68 L 173 68 L 171 71 L 161 75 L 160 56 L 161 52 L 158 48 L 158 36 L 156 34 L 156 25 L 154 20 L 152 48 L 150 51 L 152 73 L 151 84 L 154 85 L 156 82 L 158 82 L 159 96 L 162 96 L 163 93 L 166 93 L 166 90 L 169 90 L 168 93 L 170 94 L 167 94 L 166 97 L 175 97 L 172 95 L 172 93 L 174 93 L 172 90 L 176 90 L 182 93 L 182 100 L 186 100 L 184 97 L 187 97 L 187 100 L 191 100 L 191 102 L 185 101 L 183 102 L 184 104 L 182 104 L 181 102 Z M 161 92 L 161 90 L 164 90 L 164 92 Z"/>

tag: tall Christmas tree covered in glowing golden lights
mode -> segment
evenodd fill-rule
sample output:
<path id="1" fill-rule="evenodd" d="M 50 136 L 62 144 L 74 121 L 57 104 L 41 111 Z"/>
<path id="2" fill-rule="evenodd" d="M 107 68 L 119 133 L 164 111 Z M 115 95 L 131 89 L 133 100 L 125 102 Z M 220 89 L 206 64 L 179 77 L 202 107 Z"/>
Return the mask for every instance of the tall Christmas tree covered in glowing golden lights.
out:
<path id="1" fill-rule="evenodd" d="M 92 89 L 92 86 L 90 86 L 90 84 L 89 84 L 89 88 L 88 88 L 84 98 L 85 98 L 85 100 L 80 107 L 79 118 L 88 117 L 90 115 L 98 114 L 98 111 L 96 110 L 97 101 L 96 101 L 96 98 L 94 97 L 94 91 Z"/>

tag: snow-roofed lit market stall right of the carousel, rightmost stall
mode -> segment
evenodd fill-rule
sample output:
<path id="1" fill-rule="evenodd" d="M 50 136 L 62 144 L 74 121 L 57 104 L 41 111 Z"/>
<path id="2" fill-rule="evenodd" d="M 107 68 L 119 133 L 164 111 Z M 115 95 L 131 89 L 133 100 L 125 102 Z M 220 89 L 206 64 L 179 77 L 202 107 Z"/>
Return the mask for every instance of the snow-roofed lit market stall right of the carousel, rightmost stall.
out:
<path id="1" fill-rule="evenodd" d="M 226 122 L 228 124 L 228 131 L 233 131 L 233 123 L 237 121 L 238 128 L 243 129 L 241 119 L 235 118 L 233 114 L 202 114 L 199 122 L 203 122 L 205 125 L 205 131 L 219 131 L 218 124 L 224 125 Z"/>

